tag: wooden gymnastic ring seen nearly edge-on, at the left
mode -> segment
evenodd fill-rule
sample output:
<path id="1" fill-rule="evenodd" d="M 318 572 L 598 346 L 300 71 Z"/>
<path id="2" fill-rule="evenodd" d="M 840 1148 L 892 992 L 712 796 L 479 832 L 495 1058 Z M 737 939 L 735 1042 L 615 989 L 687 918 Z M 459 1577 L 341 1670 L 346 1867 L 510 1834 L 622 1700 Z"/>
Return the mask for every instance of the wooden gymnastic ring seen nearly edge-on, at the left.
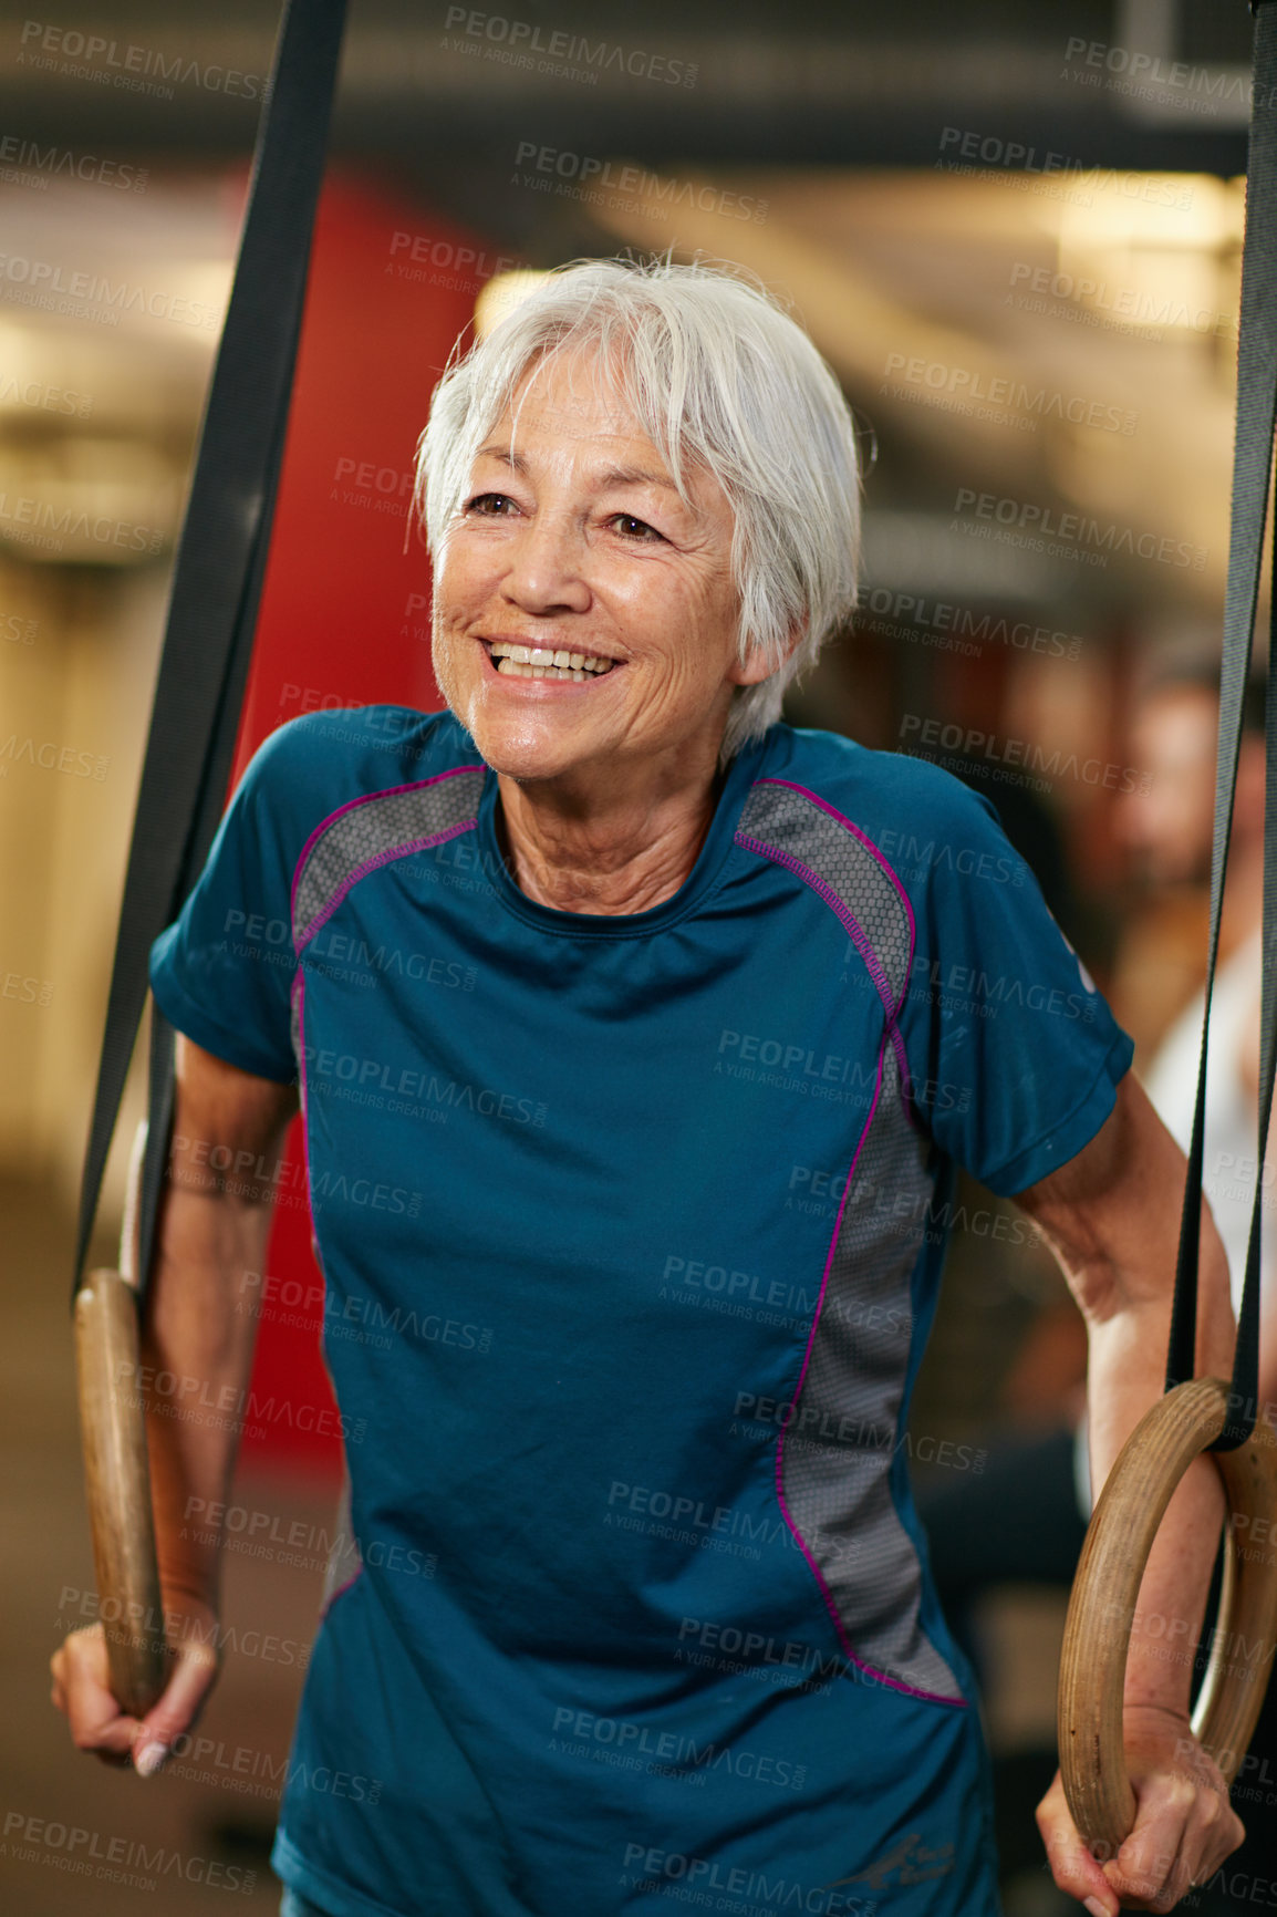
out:
<path id="1" fill-rule="evenodd" d="M 90 1271 L 75 1298 L 84 1488 L 111 1693 L 144 1718 L 169 1677 L 155 1518 L 138 1386 L 138 1294 L 119 1271 Z"/>

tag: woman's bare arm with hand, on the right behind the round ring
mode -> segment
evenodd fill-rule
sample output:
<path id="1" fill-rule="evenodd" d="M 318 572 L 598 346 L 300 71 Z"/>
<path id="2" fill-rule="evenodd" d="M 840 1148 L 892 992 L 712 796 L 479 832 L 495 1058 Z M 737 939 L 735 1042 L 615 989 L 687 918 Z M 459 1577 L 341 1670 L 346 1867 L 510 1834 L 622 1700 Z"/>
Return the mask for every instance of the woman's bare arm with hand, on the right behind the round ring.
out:
<path id="1" fill-rule="evenodd" d="M 1162 1396 L 1185 1158 L 1127 1074 L 1097 1137 L 1018 1194 L 1041 1225 L 1087 1321 L 1091 1482 L 1099 1490 L 1131 1428 Z M 1227 1259 L 1202 1215 L 1196 1371 L 1229 1376 Z M 1078 1836 L 1056 1777 L 1037 1812 L 1056 1884 L 1093 1913 L 1170 1909 L 1237 1848 L 1242 1827 L 1189 1727 L 1193 1649 L 1223 1520 L 1210 1459 L 1187 1470 L 1149 1557 L 1126 1674 L 1126 1756 L 1135 1829 L 1106 1867 Z M 1168 1658 L 1168 1641 L 1175 1654 Z"/>

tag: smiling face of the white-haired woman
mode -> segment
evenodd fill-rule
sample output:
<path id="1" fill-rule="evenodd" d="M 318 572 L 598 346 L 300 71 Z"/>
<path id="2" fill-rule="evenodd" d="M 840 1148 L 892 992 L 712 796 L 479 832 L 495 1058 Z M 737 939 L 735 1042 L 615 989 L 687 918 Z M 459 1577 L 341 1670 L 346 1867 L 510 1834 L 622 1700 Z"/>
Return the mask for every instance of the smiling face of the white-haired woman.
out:
<path id="1" fill-rule="evenodd" d="M 435 560 L 439 688 L 497 773 L 711 776 L 736 654 L 732 510 L 679 491 L 596 360 L 558 353 L 483 441 Z"/>

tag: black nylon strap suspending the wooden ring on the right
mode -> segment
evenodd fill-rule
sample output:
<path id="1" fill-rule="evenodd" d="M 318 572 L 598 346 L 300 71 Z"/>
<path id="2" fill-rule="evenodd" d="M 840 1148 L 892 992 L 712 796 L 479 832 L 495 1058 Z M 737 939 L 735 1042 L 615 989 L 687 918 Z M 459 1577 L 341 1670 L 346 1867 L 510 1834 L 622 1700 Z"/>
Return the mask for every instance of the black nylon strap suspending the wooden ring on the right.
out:
<path id="1" fill-rule="evenodd" d="M 1242 700 L 1250 673 L 1254 615 L 1260 596 L 1260 562 L 1267 516 L 1277 422 L 1277 4 L 1252 0 L 1254 88 L 1250 107 L 1250 150 L 1246 161 L 1246 240 L 1242 249 L 1241 328 L 1237 339 L 1237 433 L 1233 441 L 1233 523 L 1229 537 L 1229 583 L 1223 608 L 1223 659 L 1219 667 L 1219 750 L 1216 759 L 1216 830 L 1210 866 L 1210 947 L 1206 962 L 1206 1006 L 1202 1052 L 1193 1112 L 1193 1144 L 1183 1198 L 1175 1302 L 1172 1309 L 1166 1388 L 1172 1390 L 1196 1369 L 1196 1265 L 1202 1221 L 1202 1167 L 1206 1144 L 1206 1054 L 1210 1041 L 1210 1001 L 1219 957 L 1219 916 L 1227 872 L 1237 761 L 1242 736 Z M 1277 621 L 1277 606 L 1273 608 Z M 1269 688 L 1277 623 L 1269 633 Z M 1265 709 L 1267 796 L 1264 838 L 1264 974 L 1260 999 L 1260 1143 L 1250 1217 L 1250 1248 L 1233 1357 L 1229 1420 L 1214 1449 L 1233 1451 L 1254 1430 L 1260 1392 L 1260 1238 L 1264 1154 L 1273 1100 L 1273 987 L 1277 983 L 1273 918 L 1277 912 L 1277 700 L 1271 690 Z"/>

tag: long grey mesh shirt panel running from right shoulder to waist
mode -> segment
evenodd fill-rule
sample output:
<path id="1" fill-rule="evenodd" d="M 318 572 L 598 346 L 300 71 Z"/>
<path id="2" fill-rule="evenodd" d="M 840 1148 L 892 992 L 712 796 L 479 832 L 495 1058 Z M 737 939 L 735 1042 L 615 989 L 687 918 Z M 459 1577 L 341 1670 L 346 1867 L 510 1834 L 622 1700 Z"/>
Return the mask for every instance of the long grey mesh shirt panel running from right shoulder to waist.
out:
<path id="1" fill-rule="evenodd" d="M 775 855 L 817 895 L 821 888 L 834 893 L 897 1006 L 913 926 L 890 872 L 855 832 L 801 792 L 763 780 L 746 801 L 738 842 Z M 794 1417 L 780 1438 L 780 1486 L 855 1658 L 909 1689 L 961 1700 L 953 1672 L 922 1633 L 922 1568 L 892 1499 L 913 1342 L 909 1281 L 934 1177 L 886 1024 L 884 1006 L 878 1098 L 847 1183 Z"/>

